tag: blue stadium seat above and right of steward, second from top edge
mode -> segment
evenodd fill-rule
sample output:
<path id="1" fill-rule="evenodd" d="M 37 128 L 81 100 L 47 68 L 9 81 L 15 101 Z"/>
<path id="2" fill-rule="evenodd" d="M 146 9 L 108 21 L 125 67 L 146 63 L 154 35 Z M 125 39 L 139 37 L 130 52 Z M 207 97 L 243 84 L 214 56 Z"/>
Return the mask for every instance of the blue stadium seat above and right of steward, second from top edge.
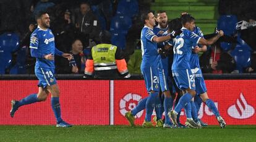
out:
<path id="1" fill-rule="evenodd" d="M 132 27 L 132 19 L 124 15 L 116 15 L 111 20 L 110 31 L 119 30 L 126 32 Z"/>

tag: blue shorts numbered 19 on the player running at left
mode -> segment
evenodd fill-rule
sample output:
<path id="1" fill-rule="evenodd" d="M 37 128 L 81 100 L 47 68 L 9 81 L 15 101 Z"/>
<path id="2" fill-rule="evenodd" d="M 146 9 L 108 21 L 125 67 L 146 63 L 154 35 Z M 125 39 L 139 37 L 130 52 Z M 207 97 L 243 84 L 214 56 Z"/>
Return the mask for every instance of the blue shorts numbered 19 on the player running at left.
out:
<path id="1" fill-rule="evenodd" d="M 56 78 L 54 77 L 54 69 L 35 69 L 35 75 L 38 78 L 38 87 L 46 88 L 46 86 L 55 85 Z"/>

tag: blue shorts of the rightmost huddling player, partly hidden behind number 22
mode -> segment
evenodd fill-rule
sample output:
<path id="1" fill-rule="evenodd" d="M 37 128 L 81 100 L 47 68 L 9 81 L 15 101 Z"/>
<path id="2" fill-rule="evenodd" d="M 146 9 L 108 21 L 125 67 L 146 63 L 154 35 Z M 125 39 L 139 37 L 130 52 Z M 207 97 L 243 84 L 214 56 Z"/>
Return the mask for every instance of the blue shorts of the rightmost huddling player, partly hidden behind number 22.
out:
<path id="1" fill-rule="evenodd" d="M 203 94 L 207 92 L 202 70 L 199 68 L 195 68 L 191 69 L 191 72 L 194 74 L 195 77 L 195 91 L 197 92 L 197 94 Z"/>

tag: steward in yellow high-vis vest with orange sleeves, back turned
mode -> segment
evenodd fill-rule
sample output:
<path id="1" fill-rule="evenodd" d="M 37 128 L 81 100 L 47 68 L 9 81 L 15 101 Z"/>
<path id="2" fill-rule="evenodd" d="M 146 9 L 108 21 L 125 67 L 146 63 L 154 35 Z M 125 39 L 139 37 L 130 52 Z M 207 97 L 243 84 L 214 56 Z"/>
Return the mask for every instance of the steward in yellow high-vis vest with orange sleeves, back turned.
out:
<path id="1" fill-rule="evenodd" d="M 126 61 L 117 46 L 111 44 L 108 31 L 100 33 L 101 44 L 93 46 L 92 56 L 85 63 L 85 78 L 129 78 Z"/>

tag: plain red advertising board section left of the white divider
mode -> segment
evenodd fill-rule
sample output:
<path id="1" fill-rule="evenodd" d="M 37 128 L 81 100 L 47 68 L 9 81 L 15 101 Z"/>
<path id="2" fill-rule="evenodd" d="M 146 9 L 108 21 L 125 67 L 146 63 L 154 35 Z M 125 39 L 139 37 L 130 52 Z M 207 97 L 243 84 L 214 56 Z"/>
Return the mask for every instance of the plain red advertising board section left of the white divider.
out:
<path id="1" fill-rule="evenodd" d="M 11 99 L 22 99 L 37 93 L 36 80 L 0 81 L 0 125 L 55 124 L 50 96 L 45 102 L 22 106 L 14 118 L 9 115 Z M 108 80 L 59 80 L 62 118 L 74 125 L 109 124 Z"/>

